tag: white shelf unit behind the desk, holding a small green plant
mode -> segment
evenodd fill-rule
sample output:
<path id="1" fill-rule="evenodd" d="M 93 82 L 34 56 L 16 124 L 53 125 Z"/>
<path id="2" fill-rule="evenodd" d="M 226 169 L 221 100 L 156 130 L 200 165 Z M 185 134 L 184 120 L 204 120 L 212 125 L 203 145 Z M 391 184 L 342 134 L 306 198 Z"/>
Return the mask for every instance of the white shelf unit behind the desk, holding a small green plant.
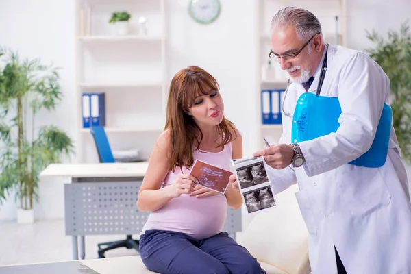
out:
<path id="1" fill-rule="evenodd" d="M 82 94 L 105 93 L 105 132 L 112 150 L 138 149 L 143 158 L 164 129 L 166 116 L 165 0 L 76 0 L 77 162 L 98 162 L 90 129 L 82 127 Z M 129 34 L 108 23 L 131 14 Z M 147 19 L 142 34 L 138 18 Z"/>

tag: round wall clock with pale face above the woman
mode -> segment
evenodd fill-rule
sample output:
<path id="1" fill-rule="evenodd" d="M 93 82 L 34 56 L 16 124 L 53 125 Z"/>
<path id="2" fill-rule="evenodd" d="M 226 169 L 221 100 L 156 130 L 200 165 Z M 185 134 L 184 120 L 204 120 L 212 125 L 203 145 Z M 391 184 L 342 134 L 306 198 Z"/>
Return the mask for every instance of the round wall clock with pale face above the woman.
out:
<path id="1" fill-rule="evenodd" d="M 219 0 L 191 0 L 188 6 L 190 16 L 201 24 L 208 24 L 216 20 L 220 10 Z"/>

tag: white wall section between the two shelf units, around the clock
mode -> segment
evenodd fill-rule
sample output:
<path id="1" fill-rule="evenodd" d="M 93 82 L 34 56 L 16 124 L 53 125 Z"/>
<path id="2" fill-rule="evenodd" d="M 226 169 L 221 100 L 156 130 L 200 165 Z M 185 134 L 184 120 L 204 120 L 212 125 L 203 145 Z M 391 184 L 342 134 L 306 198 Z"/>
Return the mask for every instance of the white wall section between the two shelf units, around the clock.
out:
<path id="1" fill-rule="evenodd" d="M 190 65 L 213 75 L 221 84 L 225 115 L 240 129 L 245 154 L 252 153 L 256 143 L 252 134 L 256 129 L 252 123 L 256 121 L 253 1 L 222 0 L 221 15 L 211 25 L 195 23 L 188 16 L 189 0 L 166 2 L 169 81 Z"/>

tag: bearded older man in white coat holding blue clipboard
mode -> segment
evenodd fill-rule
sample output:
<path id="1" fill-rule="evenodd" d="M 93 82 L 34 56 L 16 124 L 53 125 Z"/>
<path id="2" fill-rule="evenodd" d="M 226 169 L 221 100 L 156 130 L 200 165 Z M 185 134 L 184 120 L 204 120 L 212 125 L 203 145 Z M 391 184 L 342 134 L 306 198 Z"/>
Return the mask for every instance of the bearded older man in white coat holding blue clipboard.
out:
<path id="1" fill-rule="evenodd" d="M 312 273 L 411 273 L 410 195 L 391 125 L 388 77 L 364 53 L 327 45 L 319 20 L 301 8 L 275 14 L 271 46 L 270 56 L 293 82 L 280 145 L 254 156 L 273 168 L 267 172 L 275 192 L 299 184 Z M 340 109 L 329 108 L 335 103 Z M 321 133 L 333 115 L 338 127 Z"/>

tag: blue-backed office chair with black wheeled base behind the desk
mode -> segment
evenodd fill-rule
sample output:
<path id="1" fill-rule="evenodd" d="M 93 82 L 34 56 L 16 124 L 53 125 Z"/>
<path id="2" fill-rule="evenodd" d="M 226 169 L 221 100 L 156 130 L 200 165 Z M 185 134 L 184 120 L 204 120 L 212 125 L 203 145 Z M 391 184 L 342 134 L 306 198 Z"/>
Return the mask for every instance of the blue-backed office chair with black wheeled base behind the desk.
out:
<path id="1" fill-rule="evenodd" d="M 97 153 L 99 155 L 100 162 L 103 163 L 114 163 L 114 156 L 110 148 L 110 143 L 108 142 L 107 135 L 105 134 L 104 127 L 91 127 L 91 134 L 95 140 Z M 125 240 L 117 240 L 115 242 L 102 242 L 97 244 L 99 250 L 99 258 L 105 258 L 105 251 L 116 249 L 119 247 L 126 247 L 127 249 L 136 249 L 139 251 L 139 242 L 134 240 L 132 235 L 127 235 Z"/>

